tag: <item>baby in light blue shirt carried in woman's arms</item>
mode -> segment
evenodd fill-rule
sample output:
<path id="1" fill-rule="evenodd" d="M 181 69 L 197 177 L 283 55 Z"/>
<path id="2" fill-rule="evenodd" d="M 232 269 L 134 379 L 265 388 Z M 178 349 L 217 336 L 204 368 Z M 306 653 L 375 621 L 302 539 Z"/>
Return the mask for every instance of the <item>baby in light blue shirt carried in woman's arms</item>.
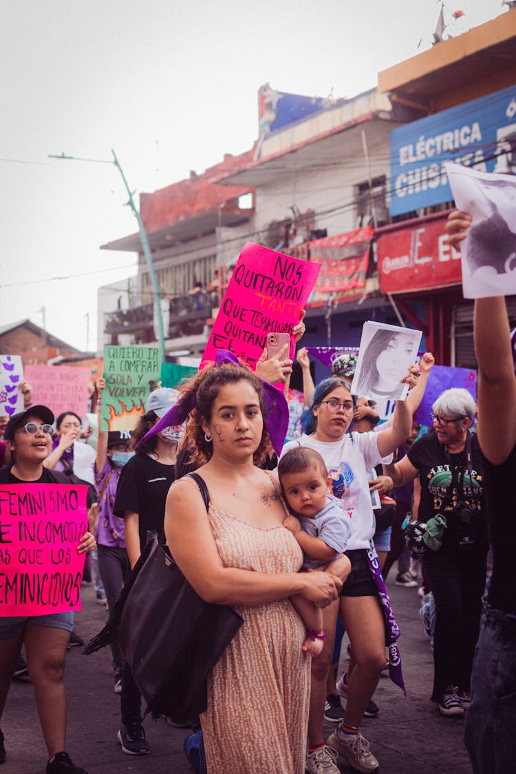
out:
<path id="1" fill-rule="evenodd" d="M 295 536 L 304 554 L 302 571 L 324 570 L 346 580 L 350 560 L 343 556 L 351 534 L 350 518 L 343 503 L 330 495 L 331 478 L 323 457 L 314 449 L 296 447 L 279 461 L 279 481 L 294 515 L 283 525 Z M 292 604 L 307 628 L 303 651 L 318 656 L 323 649 L 323 614 L 319 608 L 296 595 Z"/>

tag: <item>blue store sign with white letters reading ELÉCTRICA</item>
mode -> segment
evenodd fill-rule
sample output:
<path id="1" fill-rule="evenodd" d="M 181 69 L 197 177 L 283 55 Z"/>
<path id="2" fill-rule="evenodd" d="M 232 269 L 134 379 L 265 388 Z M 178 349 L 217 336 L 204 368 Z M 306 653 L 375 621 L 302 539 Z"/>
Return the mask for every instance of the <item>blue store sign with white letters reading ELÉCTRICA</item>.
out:
<path id="1" fill-rule="evenodd" d="M 391 132 L 391 215 L 453 200 L 445 161 L 516 173 L 516 86 Z"/>

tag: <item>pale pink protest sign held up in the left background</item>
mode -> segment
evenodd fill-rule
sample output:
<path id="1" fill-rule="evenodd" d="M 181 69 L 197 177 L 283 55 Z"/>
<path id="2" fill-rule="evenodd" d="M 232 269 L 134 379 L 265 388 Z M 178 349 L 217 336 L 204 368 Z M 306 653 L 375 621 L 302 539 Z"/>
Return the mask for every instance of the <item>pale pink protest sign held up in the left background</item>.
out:
<path id="1" fill-rule="evenodd" d="M 32 386 L 32 400 L 48 406 L 57 416 L 73 411 L 77 416 L 87 412 L 90 369 L 73 365 L 26 365 L 25 378 Z"/>

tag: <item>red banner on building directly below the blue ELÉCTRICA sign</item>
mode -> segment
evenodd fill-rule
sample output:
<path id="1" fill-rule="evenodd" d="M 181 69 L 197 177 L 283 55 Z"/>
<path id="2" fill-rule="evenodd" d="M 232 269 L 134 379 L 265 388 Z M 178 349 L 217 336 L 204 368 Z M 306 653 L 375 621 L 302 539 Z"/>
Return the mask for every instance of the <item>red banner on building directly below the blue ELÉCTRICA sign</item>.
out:
<path id="1" fill-rule="evenodd" d="M 431 215 L 377 232 L 382 293 L 413 293 L 461 283 L 460 252 L 449 244 L 446 217 Z"/>

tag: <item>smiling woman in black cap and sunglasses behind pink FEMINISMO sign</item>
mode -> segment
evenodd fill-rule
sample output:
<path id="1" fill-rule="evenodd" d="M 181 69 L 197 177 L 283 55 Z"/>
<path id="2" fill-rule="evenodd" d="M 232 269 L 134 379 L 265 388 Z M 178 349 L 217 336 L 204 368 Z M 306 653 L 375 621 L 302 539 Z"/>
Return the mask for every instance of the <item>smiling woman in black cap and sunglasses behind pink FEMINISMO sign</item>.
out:
<path id="1" fill-rule="evenodd" d="M 31 406 L 13 416 L 5 428 L 5 443 L 12 454 L 11 467 L 0 469 L 0 485 L 69 484 L 63 473 L 43 466 L 52 443 L 54 417 L 46 406 Z M 84 533 L 77 551 L 94 550 L 94 536 Z M 73 612 L 23 617 L 0 617 L 0 717 L 12 674 L 25 644 L 36 707 L 49 762 L 46 774 L 87 774 L 73 764 L 66 751 L 67 699 L 63 674 Z M 0 762 L 5 747 L 0 731 Z M 3 759 L 3 760 L 2 760 Z"/>

